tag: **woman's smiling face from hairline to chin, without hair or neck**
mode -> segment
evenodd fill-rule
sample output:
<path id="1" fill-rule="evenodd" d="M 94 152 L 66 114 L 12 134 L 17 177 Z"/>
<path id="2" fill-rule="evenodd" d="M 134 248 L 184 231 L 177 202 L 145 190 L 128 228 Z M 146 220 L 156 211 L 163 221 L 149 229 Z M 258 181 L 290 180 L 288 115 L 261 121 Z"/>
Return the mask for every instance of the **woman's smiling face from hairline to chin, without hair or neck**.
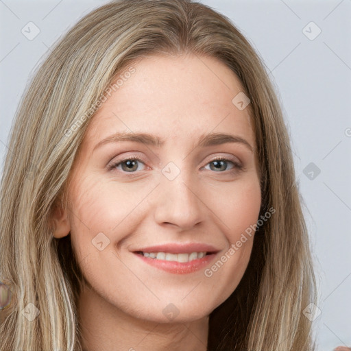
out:
<path id="1" fill-rule="evenodd" d="M 214 58 L 149 56 L 130 72 L 77 155 L 72 245 L 112 307 L 155 322 L 199 319 L 239 284 L 253 242 L 245 230 L 261 206 L 248 108 L 232 102 L 243 89 Z"/>

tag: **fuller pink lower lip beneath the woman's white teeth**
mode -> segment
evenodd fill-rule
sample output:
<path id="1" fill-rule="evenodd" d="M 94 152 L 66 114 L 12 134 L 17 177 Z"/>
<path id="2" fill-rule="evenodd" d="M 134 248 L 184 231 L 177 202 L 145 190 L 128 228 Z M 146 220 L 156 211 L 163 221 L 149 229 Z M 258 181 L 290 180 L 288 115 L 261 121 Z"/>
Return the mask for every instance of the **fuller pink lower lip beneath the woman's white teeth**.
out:
<path id="1" fill-rule="evenodd" d="M 142 254 L 136 254 L 136 252 L 133 253 L 148 265 L 152 265 L 173 274 L 189 274 L 198 271 L 208 265 L 208 263 L 210 263 L 210 261 L 216 256 L 216 254 L 209 254 L 190 262 L 180 263 L 176 261 L 158 260 L 156 258 L 145 257 Z"/>

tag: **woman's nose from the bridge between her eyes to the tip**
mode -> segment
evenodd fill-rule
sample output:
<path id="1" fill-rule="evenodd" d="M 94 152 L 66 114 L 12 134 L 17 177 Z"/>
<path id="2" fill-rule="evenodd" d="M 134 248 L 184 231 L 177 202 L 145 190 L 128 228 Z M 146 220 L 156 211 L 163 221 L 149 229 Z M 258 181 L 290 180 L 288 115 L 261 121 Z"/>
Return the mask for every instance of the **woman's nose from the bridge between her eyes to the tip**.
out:
<path id="1" fill-rule="evenodd" d="M 184 163 L 182 164 L 184 165 Z M 162 169 L 160 198 L 156 206 L 158 223 L 173 223 L 191 228 L 202 221 L 202 202 L 197 195 L 197 181 L 189 169 L 169 162 Z"/>

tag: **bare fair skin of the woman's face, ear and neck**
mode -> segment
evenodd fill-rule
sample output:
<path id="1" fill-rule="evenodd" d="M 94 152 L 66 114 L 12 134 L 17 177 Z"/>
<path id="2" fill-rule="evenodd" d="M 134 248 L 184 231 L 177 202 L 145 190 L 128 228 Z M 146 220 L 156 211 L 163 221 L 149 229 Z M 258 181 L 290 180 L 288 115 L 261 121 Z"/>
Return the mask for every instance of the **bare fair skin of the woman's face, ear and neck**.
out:
<path id="1" fill-rule="evenodd" d="M 137 248 L 161 243 L 209 243 L 217 261 L 256 223 L 261 189 L 248 108 L 232 99 L 243 88 L 215 58 L 148 56 L 108 97 L 84 136 L 69 181 L 70 208 L 56 210 L 55 237 L 71 233 L 84 275 L 79 315 L 84 350 L 206 350 L 210 313 L 236 289 L 252 251 L 247 237 L 210 278 L 204 269 L 171 274 L 143 263 Z M 116 132 L 165 139 L 157 147 L 135 141 L 95 145 Z M 202 134 L 223 132 L 250 143 L 198 147 Z M 111 160 L 140 156 L 132 167 Z M 216 156 L 228 159 L 213 165 Z M 243 170 L 233 169 L 240 162 Z M 180 174 L 162 169 L 173 162 Z M 234 171 L 233 171 L 234 170 Z M 98 233 L 110 240 L 92 244 Z M 210 263 L 212 265 L 213 263 Z M 208 267 L 210 267 L 210 265 Z M 163 309 L 173 304 L 178 315 Z"/>

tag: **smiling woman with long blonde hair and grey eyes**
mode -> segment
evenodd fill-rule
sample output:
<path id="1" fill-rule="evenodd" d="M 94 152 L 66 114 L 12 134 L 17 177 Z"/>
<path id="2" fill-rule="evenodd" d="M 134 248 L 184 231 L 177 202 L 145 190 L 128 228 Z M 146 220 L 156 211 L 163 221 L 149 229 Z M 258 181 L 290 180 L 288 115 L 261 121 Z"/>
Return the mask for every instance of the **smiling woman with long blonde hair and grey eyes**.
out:
<path id="1" fill-rule="evenodd" d="M 10 149 L 1 351 L 315 349 L 289 135 L 226 17 L 91 12 L 36 73 Z"/>

